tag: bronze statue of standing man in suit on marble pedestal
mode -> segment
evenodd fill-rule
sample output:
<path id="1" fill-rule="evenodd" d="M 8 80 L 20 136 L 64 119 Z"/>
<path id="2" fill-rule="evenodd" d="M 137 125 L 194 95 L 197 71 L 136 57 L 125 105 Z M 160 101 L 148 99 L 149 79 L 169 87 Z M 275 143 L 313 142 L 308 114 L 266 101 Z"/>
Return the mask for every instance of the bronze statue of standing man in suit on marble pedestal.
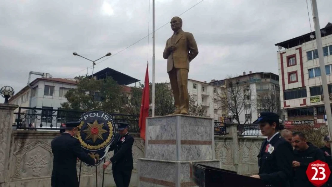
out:
<path id="1" fill-rule="evenodd" d="M 189 63 L 197 56 L 198 48 L 193 34 L 182 31 L 182 19 L 173 17 L 171 28 L 174 34 L 166 42 L 163 57 L 167 59 L 167 73 L 171 82 L 175 112 L 188 115 Z"/>

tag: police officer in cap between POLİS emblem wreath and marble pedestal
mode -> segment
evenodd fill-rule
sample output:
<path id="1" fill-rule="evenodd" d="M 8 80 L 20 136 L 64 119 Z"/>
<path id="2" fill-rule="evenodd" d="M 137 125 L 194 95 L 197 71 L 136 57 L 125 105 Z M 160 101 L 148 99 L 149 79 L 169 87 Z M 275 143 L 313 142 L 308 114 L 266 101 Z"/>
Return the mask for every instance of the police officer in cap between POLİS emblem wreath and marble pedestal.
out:
<path id="1" fill-rule="evenodd" d="M 134 139 L 128 134 L 127 123 L 118 123 L 118 132 L 110 146 L 110 151 L 114 150 L 113 157 L 104 163 L 103 168 L 105 169 L 112 162 L 115 184 L 117 187 L 128 187 L 133 169 L 132 145 Z"/>

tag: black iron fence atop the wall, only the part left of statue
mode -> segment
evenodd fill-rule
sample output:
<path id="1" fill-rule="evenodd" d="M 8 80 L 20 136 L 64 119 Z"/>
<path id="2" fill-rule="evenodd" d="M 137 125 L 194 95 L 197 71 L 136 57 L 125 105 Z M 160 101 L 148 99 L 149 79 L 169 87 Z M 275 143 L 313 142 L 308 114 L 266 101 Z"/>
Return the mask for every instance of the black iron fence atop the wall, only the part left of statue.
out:
<path id="1" fill-rule="evenodd" d="M 14 129 L 25 130 L 58 130 L 61 124 L 71 121 L 78 121 L 83 111 L 55 110 L 45 108 L 19 107 L 19 111 L 14 113 Z M 139 132 L 137 115 L 110 114 L 115 123 L 125 122 L 129 124 L 128 131 Z"/>

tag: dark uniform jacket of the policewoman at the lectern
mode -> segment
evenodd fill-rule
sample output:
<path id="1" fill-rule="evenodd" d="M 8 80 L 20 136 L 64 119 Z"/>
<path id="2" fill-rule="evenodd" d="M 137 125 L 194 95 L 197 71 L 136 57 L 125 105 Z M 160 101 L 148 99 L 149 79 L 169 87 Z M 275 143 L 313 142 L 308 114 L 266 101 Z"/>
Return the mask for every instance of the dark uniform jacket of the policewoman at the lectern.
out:
<path id="1" fill-rule="evenodd" d="M 267 145 L 273 151 L 265 152 Z M 272 150 L 272 149 L 270 149 Z M 267 184 L 274 187 L 289 187 L 292 173 L 293 148 L 280 133 L 270 142 L 263 141 L 258 157 L 259 176 Z"/>

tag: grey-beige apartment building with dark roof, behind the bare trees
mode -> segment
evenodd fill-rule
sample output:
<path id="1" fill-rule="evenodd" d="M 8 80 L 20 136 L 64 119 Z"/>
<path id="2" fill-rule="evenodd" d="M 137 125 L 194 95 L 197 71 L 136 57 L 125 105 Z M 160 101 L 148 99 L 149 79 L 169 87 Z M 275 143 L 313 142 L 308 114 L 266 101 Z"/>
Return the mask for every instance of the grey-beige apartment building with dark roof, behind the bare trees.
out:
<path id="1" fill-rule="evenodd" d="M 278 75 L 265 72 L 252 73 L 249 71 L 249 74 L 243 72 L 243 75 L 237 77 L 231 77 L 223 80 L 211 80 L 210 84 L 222 86 L 222 89 L 229 89 L 227 84 L 229 84 L 230 81 L 233 84 L 239 84 L 242 87 L 241 89 L 237 89 L 243 91 L 243 96 L 241 98 L 244 98 L 244 101 L 242 100 L 243 107 L 238 108 L 239 121 L 241 124 L 250 124 L 253 120 L 257 119 L 259 113 L 269 111 L 269 109 L 262 106 L 262 102 L 268 102 L 266 99 L 263 99 L 267 98 L 267 94 L 270 94 L 269 97 L 271 98 L 271 93 L 276 93 L 275 97 L 271 99 L 271 101 L 274 102 L 275 109 L 280 108 Z M 278 110 L 273 112 L 281 113 Z M 232 114 L 228 112 L 227 115 L 231 116 Z M 231 117 L 233 122 L 236 123 L 235 117 Z"/>

